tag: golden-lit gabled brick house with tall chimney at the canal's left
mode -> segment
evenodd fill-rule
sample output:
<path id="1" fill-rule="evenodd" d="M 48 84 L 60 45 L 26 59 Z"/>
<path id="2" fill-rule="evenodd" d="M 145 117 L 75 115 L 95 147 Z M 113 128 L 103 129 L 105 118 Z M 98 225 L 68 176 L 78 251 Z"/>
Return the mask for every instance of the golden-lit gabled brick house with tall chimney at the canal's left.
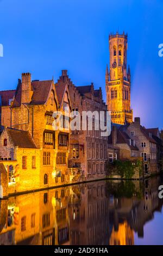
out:
<path id="1" fill-rule="evenodd" d="M 8 96 L 3 97 L 4 94 Z M 12 180 L 15 182 L 14 192 L 70 182 L 68 115 L 71 103 L 67 85 L 55 88 L 53 80 L 31 81 L 31 75 L 24 73 L 22 80 L 18 80 L 16 91 L 1 92 L 0 95 L 1 124 L 10 127 L 2 132 L 0 157 L 8 170 L 8 177 L 10 161 L 16 161 L 12 166 L 12 176 L 15 175 L 16 166 L 18 174 L 18 178 Z M 56 131 L 52 125 L 55 111 L 62 113 L 62 123 Z M 34 147 L 28 147 L 29 142 L 33 142 Z M 35 168 L 32 168 L 32 162 Z M 31 174 L 35 176 L 34 180 Z M 9 193 L 12 193 L 10 187 Z"/>

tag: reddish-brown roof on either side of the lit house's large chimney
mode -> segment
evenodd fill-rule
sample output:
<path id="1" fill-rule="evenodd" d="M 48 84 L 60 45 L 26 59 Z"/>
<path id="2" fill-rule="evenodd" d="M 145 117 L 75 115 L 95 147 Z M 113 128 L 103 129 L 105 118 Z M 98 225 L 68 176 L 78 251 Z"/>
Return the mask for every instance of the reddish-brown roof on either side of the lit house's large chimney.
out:
<path id="1" fill-rule="evenodd" d="M 51 89 L 53 80 L 32 81 L 33 96 L 30 105 L 43 105 L 46 103 Z M 15 99 L 12 107 L 20 107 L 21 105 L 22 84 L 19 82 L 16 89 Z"/>

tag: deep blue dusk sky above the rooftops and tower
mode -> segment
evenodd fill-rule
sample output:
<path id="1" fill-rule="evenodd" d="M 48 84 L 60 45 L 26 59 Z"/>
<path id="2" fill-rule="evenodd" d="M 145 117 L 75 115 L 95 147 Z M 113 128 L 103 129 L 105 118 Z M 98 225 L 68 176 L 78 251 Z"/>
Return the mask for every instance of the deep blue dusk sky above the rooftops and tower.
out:
<path id="1" fill-rule="evenodd" d="M 128 33 L 131 106 L 146 127 L 163 128 L 162 0 L 0 0 L 0 90 L 22 72 L 57 81 L 67 69 L 77 86 L 102 87 L 110 32 Z"/>

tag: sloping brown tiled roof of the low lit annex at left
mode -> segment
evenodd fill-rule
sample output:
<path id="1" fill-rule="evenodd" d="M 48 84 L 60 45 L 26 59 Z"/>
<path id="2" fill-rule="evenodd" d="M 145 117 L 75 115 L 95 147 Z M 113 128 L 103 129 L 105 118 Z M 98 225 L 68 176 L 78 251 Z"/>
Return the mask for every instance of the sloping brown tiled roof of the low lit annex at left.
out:
<path id="1" fill-rule="evenodd" d="M 36 149 L 35 142 L 28 131 L 16 130 L 7 128 L 8 135 L 15 146 L 19 148 L 33 148 Z"/>

